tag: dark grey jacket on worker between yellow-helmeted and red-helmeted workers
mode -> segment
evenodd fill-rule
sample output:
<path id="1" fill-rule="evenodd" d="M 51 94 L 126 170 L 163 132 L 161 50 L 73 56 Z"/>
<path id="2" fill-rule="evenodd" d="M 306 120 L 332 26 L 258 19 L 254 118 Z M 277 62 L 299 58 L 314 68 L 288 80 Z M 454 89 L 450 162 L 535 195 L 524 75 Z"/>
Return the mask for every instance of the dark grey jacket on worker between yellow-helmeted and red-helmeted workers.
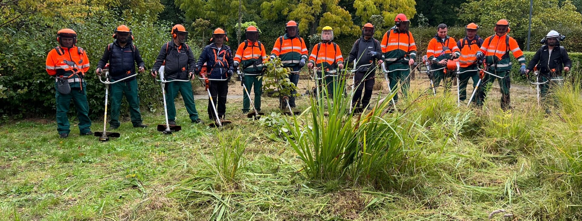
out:
<path id="1" fill-rule="evenodd" d="M 368 56 L 369 51 L 378 52 L 377 56 Z M 346 65 L 353 65 L 353 61 L 356 60 L 356 67 L 358 67 L 357 72 L 367 72 L 370 67 L 372 68 L 372 73 L 376 69 L 377 60 L 384 59 L 382 58 L 382 47 L 380 46 L 380 42 L 375 40 L 375 38 L 370 38 L 368 40 L 364 39 L 364 36 L 360 37 L 360 39 L 354 42 L 352 46 L 352 51 L 350 51 L 349 58 Z M 372 65 L 370 66 L 362 66 L 368 65 L 372 61 Z"/>

